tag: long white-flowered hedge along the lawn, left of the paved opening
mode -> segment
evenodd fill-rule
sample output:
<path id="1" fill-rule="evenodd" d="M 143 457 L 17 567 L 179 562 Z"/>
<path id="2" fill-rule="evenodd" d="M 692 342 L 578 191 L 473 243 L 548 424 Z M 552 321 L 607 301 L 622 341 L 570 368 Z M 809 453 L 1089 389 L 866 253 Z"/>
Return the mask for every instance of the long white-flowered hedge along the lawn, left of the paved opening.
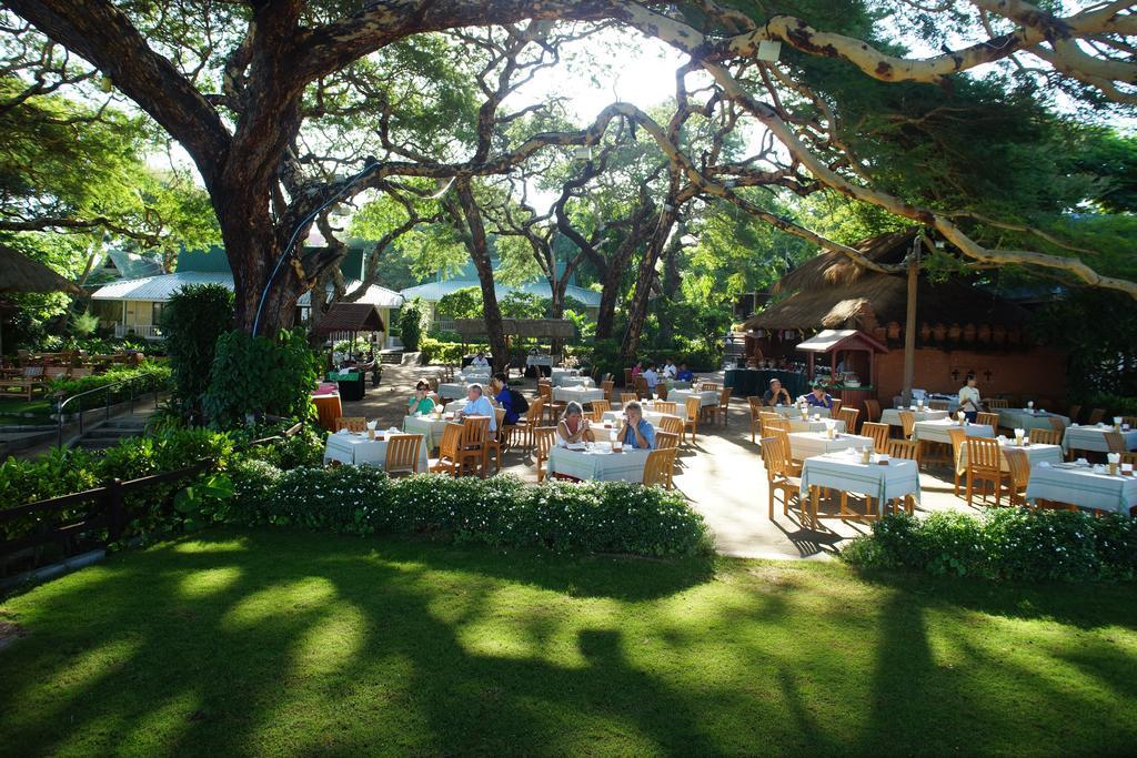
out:
<path id="1" fill-rule="evenodd" d="M 391 480 L 370 466 L 296 468 L 235 464 L 235 497 L 214 520 L 354 534 L 401 532 L 454 542 L 557 551 L 679 556 L 711 551 L 703 517 L 678 494 L 622 482 L 547 482 L 513 476 Z"/>

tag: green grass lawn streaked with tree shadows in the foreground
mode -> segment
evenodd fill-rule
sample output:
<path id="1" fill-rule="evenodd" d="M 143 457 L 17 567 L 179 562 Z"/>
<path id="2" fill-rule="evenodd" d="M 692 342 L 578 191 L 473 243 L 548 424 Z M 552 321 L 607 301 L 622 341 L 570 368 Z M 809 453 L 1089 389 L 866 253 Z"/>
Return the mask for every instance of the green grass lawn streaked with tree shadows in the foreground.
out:
<path id="1" fill-rule="evenodd" d="M 299 532 L 0 606 L 3 755 L 1122 753 L 1132 588 Z"/>

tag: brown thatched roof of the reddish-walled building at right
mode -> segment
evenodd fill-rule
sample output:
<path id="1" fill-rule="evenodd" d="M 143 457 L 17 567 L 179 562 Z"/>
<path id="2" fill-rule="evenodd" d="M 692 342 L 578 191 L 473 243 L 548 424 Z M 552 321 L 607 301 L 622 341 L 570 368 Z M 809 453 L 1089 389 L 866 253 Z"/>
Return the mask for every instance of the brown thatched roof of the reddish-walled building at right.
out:
<path id="1" fill-rule="evenodd" d="M 870 260 L 899 264 L 912 249 L 915 231 L 894 232 L 853 245 Z M 880 274 L 838 252 L 825 252 L 782 277 L 771 292 L 774 302 L 752 316 L 746 330 L 757 328 L 871 328 L 890 322 L 903 324 L 907 307 L 904 274 Z M 778 300 L 778 295 L 787 295 Z M 916 315 L 923 323 L 1020 326 L 1028 319 L 1019 306 L 953 277 L 930 282 L 921 274 Z"/>

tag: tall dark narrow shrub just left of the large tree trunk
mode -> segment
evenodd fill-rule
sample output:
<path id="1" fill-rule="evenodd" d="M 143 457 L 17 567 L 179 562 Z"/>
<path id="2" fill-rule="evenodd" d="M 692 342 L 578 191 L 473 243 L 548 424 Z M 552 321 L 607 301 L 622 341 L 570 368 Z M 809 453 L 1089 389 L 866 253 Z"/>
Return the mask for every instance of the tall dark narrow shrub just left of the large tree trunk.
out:
<path id="1" fill-rule="evenodd" d="M 161 332 L 173 369 L 174 397 L 182 409 L 201 414 L 214 352 L 233 328 L 233 293 L 221 284 L 192 284 L 175 292 L 161 311 Z"/>

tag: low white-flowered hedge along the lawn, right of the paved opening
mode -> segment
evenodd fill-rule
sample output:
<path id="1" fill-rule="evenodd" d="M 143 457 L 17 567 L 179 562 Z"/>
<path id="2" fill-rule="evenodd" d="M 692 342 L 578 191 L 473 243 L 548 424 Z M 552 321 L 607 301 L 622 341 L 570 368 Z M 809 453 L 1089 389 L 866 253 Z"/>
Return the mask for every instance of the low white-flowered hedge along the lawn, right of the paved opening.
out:
<path id="1" fill-rule="evenodd" d="M 910 568 L 991 580 L 1137 577 L 1137 519 L 1084 511 L 998 508 L 982 516 L 886 516 L 841 557 L 865 568 Z"/>

